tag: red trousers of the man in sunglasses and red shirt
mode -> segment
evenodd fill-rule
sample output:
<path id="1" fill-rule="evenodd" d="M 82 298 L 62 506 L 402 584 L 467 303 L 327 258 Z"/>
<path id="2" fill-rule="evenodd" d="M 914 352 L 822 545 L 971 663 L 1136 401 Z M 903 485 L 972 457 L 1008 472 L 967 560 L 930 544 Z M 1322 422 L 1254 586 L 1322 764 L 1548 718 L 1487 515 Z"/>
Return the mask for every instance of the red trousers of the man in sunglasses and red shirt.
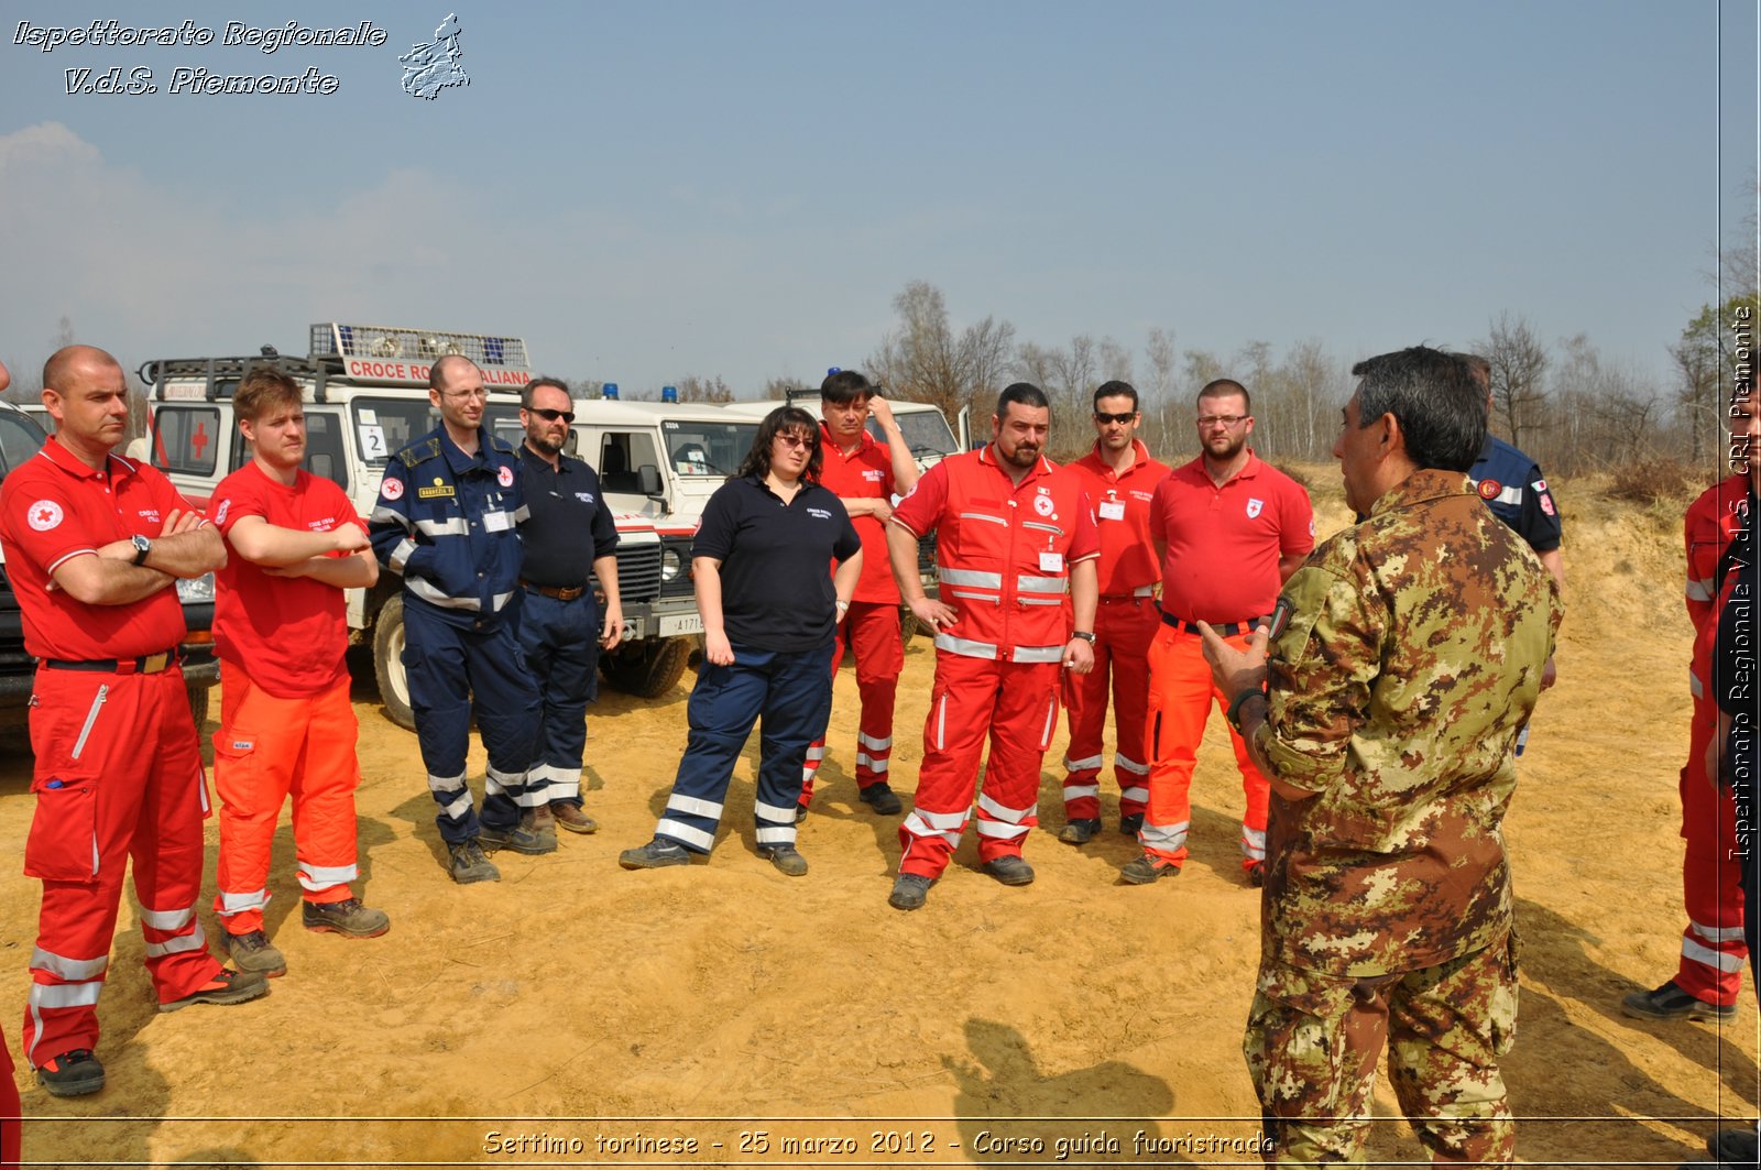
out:
<path id="1" fill-rule="evenodd" d="M 1150 701 L 1150 641 L 1162 627 L 1155 597 L 1102 597 L 1095 610 L 1095 668 L 1064 677 L 1071 745 L 1064 752 L 1064 818 L 1101 818 L 1101 733 L 1106 728 L 1108 678 L 1113 685 L 1113 779 L 1118 812 L 1143 812 L 1150 763 L 1143 728 Z"/>

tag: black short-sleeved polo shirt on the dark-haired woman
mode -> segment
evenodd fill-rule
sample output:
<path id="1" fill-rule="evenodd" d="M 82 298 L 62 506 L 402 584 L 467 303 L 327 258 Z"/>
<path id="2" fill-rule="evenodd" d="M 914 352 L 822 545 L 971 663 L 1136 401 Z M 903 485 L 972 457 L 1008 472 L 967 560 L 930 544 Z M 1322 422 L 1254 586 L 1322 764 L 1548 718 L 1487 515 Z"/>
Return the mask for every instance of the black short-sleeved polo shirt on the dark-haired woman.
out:
<path id="1" fill-rule="evenodd" d="M 710 497 L 690 555 L 722 562 L 729 641 L 792 654 L 831 641 L 831 562 L 861 548 L 851 515 L 826 488 L 803 481 L 784 504 L 757 476 L 741 476 Z"/>

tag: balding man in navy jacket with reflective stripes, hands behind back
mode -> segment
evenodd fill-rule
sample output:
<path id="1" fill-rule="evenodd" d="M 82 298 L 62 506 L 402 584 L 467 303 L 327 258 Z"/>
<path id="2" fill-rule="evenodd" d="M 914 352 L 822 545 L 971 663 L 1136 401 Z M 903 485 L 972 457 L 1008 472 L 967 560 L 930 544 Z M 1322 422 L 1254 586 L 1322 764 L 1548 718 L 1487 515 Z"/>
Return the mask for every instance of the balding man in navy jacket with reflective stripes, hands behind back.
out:
<path id="1" fill-rule="evenodd" d="M 461 354 L 435 361 L 428 402 L 440 426 L 386 462 L 368 520 L 373 553 L 403 576 L 403 668 L 416 740 L 453 881 L 500 881 L 484 849 L 553 853 L 527 800 L 539 692 L 514 633 L 527 518 L 518 456 L 483 425 L 490 391 Z M 470 721 L 490 765 L 483 819 L 465 786 Z"/>

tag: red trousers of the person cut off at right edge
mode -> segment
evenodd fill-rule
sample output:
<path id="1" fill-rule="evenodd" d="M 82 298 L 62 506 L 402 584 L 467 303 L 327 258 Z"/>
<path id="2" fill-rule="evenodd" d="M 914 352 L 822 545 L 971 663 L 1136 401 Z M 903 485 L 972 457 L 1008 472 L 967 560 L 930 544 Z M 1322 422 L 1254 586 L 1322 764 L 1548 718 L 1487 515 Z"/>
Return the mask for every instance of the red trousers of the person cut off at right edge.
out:
<path id="1" fill-rule="evenodd" d="M 1710 700 L 1694 700 L 1694 722 L 1687 740 L 1687 765 L 1682 768 L 1682 904 L 1687 929 L 1682 930 L 1682 964 L 1675 985 L 1696 999 L 1715 1004 L 1736 1003 L 1743 985 L 1743 863 L 1731 856 L 1736 849 L 1736 809 L 1731 789 L 1706 779 L 1706 747 L 1717 735 L 1719 708 Z"/>

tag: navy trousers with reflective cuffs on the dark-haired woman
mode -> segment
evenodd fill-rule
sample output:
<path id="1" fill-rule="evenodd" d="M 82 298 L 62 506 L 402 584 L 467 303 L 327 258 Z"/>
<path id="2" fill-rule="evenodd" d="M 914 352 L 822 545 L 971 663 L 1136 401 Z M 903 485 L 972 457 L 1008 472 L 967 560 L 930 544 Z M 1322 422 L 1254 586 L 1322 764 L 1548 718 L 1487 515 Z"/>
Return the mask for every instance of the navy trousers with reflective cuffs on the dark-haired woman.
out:
<path id="1" fill-rule="evenodd" d="M 678 761 L 666 814 L 655 825 L 655 837 L 676 840 L 692 853 L 708 853 L 715 846 L 734 761 L 757 721 L 763 721 L 752 807 L 757 846 L 792 846 L 801 761 L 808 744 L 826 733 L 826 721 L 831 719 L 829 641 L 791 654 L 740 645 L 733 650 L 733 666 L 715 666 L 706 659 L 697 685 L 690 689 L 690 738 Z"/>

